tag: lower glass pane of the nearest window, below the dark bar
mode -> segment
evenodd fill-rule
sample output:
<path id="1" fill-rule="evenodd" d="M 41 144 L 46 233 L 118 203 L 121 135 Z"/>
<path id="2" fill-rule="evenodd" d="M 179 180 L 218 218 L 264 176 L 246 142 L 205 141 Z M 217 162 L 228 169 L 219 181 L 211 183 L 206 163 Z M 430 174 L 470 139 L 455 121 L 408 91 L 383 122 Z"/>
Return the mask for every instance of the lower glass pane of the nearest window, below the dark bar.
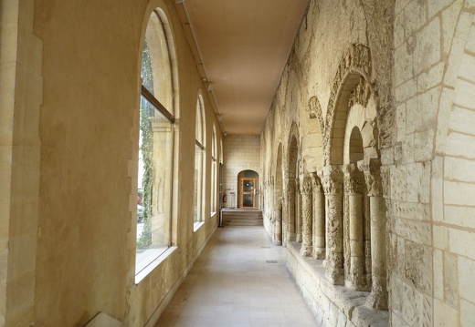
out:
<path id="1" fill-rule="evenodd" d="M 171 245 L 173 126 L 141 97 L 136 273 Z"/>

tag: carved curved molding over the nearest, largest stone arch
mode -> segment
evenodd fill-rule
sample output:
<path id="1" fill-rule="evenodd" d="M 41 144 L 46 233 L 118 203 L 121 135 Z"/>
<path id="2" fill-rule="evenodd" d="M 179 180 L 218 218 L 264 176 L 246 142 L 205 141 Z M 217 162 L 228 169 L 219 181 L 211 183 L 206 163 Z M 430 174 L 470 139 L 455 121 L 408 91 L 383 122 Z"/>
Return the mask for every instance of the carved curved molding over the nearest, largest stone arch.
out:
<path id="1" fill-rule="evenodd" d="M 353 107 L 355 103 L 366 104 L 369 97 L 372 94 L 375 95 L 375 87 L 371 85 L 369 78 L 371 69 L 370 49 L 362 44 L 351 45 L 340 61 L 336 75 L 333 78 L 325 118 L 324 165 L 342 163 L 342 158 L 334 158 L 333 154 L 339 149 L 343 150 L 343 144 L 338 144 L 338 142 L 343 142 L 344 126 L 339 126 L 338 129 L 335 128 L 335 121 L 344 121 L 346 115 L 343 115 L 343 113 L 346 114 L 350 107 Z M 342 115 L 337 115 L 339 112 Z M 335 136 L 335 134 L 342 135 Z M 334 137 L 338 139 L 335 141 Z"/>

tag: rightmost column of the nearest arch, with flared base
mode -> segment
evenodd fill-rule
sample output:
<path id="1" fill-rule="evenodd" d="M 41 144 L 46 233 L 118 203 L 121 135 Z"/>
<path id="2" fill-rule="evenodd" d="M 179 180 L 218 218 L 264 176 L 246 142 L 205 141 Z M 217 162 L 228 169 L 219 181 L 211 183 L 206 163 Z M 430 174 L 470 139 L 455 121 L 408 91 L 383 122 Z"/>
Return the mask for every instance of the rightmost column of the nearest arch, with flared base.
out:
<path id="1" fill-rule="evenodd" d="M 370 197 L 371 211 L 371 294 L 366 303 L 371 308 L 387 309 L 385 224 L 386 207 L 381 185 L 379 159 L 358 161 Z"/>

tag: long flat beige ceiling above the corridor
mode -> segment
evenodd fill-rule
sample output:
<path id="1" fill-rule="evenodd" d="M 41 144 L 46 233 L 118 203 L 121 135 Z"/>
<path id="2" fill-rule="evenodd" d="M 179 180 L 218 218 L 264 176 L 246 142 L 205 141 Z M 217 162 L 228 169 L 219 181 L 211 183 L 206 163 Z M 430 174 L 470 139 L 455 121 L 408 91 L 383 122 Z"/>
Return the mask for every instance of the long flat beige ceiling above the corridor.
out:
<path id="1" fill-rule="evenodd" d="M 176 0 L 225 134 L 258 135 L 308 0 Z"/>

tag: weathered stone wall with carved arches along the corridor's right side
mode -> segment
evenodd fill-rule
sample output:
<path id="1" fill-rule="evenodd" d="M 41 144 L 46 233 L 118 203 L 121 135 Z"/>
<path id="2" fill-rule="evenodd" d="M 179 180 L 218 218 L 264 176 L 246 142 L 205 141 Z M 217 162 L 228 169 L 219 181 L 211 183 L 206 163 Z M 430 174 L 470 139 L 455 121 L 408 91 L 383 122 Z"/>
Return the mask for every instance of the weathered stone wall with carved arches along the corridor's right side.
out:
<path id="1" fill-rule="evenodd" d="M 338 293 L 319 291 L 324 279 L 365 290 L 368 309 L 388 308 L 385 324 L 474 323 L 474 5 L 310 2 L 261 157 L 269 235 L 308 249 L 311 229 L 313 252 L 289 262 L 311 305 Z M 326 304 L 327 317 L 346 315 L 326 325 L 366 323 Z"/>

